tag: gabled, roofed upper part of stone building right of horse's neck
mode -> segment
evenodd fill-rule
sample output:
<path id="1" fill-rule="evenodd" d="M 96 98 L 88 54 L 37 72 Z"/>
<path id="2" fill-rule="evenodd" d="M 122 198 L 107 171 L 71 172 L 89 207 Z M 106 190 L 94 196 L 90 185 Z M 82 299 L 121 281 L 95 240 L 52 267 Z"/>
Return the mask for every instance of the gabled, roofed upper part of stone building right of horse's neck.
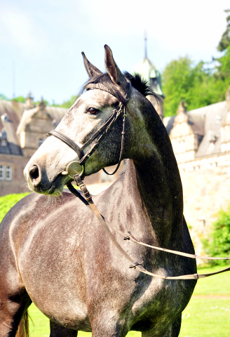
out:
<path id="1" fill-rule="evenodd" d="M 188 112 L 182 100 L 176 116 L 163 119 L 180 171 L 229 171 L 229 90 L 223 102 Z"/>

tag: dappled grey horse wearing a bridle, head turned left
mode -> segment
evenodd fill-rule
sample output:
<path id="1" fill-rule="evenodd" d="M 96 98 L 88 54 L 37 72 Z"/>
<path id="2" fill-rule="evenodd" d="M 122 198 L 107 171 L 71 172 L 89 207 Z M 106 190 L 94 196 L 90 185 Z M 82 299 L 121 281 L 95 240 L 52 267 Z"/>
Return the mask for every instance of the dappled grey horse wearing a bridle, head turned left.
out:
<path id="1" fill-rule="evenodd" d="M 81 164 L 80 154 L 82 178 L 127 159 L 120 178 L 93 197 L 103 218 L 145 244 L 194 254 L 177 161 L 146 98 L 149 86 L 137 74 L 122 73 L 109 46 L 104 48 L 107 72 L 83 54 L 89 79 L 55 129 L 69 143 L 50 132 L 25 167 L 36 193 L 20 200 L 1 223 L 0 337 L 16 335 L 32 302 L 50 319 L 50 337 L 76 337 L 78 331 L 92 331 L 93 337 L 180 333 L 196 279 L 166 277 L 196 273 L 196 261 L 136 245 L 111 229 L 123 251 L 158 277 L 130 268 L 87 202 L 64 189 L 74 180 L 69 163 Z M 98 142 L 92 135 L 118 111 L 125 114 L 116 115 Z"/>

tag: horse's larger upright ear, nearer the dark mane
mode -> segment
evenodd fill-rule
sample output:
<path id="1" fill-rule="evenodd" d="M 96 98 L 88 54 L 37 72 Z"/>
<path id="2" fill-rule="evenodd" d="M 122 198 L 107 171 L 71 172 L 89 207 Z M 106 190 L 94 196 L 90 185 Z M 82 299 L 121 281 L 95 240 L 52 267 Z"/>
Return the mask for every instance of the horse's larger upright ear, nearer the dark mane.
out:
<path id="1" fill-rule="evenodd" d="M 107 70 L 107 73 L 109 74 L 109 77 L 111 78 L 111 81 L 116 86 L 121 86 L 124 91 L 126 91 L 126 85 L 127 81 L 126 78 L 123 76 L 121 70 L 119 70 L 119 67 L 116 65 L 116 62 L 114 61 L 113 54 L 111 52 L 111 49 L 107 44 L 104 45 L 105 49 L 105 68 Z"/>

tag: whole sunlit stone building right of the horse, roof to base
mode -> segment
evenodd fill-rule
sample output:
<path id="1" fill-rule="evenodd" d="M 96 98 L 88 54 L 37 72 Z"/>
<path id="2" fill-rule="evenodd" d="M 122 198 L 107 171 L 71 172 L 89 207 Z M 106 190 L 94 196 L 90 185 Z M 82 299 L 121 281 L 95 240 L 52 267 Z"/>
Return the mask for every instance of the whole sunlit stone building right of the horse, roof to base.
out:
<path id="1" fill-rule="evenodd" d="M 184 216 L 202 254 L 202 238 L 230 204 L 230 88 L 224 102 L 196 110 L 187 111 L 182 101 L 176 116 L 163 122 L 180 169 Z"/>

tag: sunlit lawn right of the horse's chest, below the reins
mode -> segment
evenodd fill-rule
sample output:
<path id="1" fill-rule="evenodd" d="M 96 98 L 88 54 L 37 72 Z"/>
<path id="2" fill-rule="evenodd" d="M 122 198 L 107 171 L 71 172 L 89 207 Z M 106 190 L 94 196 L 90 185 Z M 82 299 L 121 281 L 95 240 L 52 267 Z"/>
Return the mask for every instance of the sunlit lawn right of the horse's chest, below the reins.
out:
<path id="1" fill-rule="evenodd" d="M 222 267 L 206 267 L 200 273 L 215 272 Z M 229 272 L 199 279 L 189 305 L 182 314 L 180 337 L 229 337 Z"/>

